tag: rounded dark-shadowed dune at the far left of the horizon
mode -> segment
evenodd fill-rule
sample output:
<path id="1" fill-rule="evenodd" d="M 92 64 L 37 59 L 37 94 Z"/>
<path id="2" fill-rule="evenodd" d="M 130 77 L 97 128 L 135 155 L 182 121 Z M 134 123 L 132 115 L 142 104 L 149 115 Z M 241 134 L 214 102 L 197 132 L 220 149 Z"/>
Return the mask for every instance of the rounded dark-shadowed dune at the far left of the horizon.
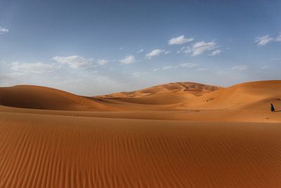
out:
<path id="1" fill-rule="evenodd" d="M 84 96 L 48 87 L 18 85 L 0 87 L 0 105 L 46 110 L 94 111 L 107 107 Z"/>

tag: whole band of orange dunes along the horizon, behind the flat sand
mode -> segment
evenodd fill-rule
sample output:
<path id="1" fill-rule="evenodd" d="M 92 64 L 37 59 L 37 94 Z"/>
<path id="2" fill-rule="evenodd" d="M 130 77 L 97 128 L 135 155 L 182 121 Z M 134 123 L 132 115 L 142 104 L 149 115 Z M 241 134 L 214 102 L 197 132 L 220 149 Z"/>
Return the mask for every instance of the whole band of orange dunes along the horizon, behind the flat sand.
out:
<path id="1" fill-rule="evenodd" d="M 192 82 L 162 84 L 135 92 L 77 96 L 58 89 L 21 85 L 0 88 L 0 105 L 65 111 L 177 111 L 238 109 L 268 111 L 281 106 L 281 81 L 216 87 Z"/>

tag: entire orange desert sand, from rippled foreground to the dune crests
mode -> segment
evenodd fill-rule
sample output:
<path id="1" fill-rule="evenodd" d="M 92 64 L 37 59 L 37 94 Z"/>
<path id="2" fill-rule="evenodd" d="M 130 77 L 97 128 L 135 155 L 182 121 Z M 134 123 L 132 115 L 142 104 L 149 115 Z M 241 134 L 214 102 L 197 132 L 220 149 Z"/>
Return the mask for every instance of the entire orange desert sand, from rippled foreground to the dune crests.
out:
<path id="1" fill-rule="evenodd" d="M 277 80 L 93 97 L 2 87 L 0 187 L 280 187 L 280 110 Z"/>

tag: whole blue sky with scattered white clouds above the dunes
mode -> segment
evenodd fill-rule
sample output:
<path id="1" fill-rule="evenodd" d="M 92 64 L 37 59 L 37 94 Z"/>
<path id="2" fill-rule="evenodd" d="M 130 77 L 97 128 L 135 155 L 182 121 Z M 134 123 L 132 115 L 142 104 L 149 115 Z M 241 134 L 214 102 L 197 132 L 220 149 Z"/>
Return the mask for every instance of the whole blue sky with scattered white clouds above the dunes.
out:
<path id="1" fill-rule="evenodd" d="M 0 0 L 0 87 L 94 96 L 281 79 L 281 1 Z"/>

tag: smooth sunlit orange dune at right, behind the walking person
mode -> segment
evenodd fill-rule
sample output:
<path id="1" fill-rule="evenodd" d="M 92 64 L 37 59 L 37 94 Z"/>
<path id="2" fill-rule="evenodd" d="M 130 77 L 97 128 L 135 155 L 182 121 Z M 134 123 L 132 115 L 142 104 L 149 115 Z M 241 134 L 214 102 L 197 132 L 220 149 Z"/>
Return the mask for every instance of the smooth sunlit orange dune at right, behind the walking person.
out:
<path id="1" fill-rule="evenodd" d="M 281 106 L 281 80 L 246 82 L 194 97 L 183 106 L 200 109 L 268 111 L 270 103 Z"/>

